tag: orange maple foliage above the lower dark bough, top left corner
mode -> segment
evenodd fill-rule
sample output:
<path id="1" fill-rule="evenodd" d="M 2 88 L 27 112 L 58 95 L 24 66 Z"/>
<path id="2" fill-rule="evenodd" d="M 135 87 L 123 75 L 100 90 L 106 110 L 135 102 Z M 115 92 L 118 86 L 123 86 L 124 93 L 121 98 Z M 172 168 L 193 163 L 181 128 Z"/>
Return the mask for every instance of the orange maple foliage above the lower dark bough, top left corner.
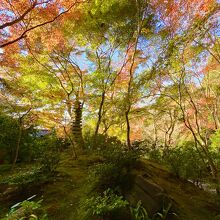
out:
<path id="1" fill-rule="evenodd" d="M 1 1 L 0 47 L 28 37 L 30 31 L 58 20 L 79 3 L 60 0 Z"/>

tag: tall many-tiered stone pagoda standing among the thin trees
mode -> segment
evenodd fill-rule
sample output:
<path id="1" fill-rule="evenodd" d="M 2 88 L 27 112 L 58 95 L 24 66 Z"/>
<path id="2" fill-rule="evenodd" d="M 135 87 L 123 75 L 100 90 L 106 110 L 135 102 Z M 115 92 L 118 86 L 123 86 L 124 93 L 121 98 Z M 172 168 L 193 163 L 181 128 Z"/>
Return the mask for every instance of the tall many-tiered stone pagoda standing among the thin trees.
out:
<path id="1" fill-rule="evenodd" d="M 75 119 L 72 125 L 73 140 L 77 148 L 84 148 L 82 136 L 82 104 L 79 100 L 74 103 Z"/>

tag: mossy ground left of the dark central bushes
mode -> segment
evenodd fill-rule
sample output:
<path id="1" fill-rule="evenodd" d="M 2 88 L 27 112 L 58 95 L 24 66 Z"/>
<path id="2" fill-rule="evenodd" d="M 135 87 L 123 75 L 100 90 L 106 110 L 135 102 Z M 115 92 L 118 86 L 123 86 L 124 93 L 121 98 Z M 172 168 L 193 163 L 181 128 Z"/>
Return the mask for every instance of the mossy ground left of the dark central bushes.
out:
<path id="1" fill-rule="evenodd" d="M 0 219 L 14 204 L 36 195 L 36 201 L 43 200 L 41 204 L 49 215 L 49 219 L 77 220 L 77 208 L 80 198 L 85 194 L 83 186 L 87 180 L 89 166 L 94 165 L 99 158 L 91 155 L 80 155 L 79 159 L 74 160 L 70 155 L 69 151 L 61 155 L 56 175 L 49 181 L 43 184 L 36 183 L 26 189 L 19 190 L 9 200 L 6 198 L 4 204 L 0 200 Z M 2 170 L 1 167 L 0 170 Z M 18 166 L 17 170 L 20 172 L 26 170 L 26 167 Z M 2 172 L 0 179 L 3 176 L 15 175 L 15 173 L 16 170 L 13 173 Z M 15 188 L 13 185 L 11 187 Z M 5 185 L 0 185 L 0 197 L 5 189 Z"/>

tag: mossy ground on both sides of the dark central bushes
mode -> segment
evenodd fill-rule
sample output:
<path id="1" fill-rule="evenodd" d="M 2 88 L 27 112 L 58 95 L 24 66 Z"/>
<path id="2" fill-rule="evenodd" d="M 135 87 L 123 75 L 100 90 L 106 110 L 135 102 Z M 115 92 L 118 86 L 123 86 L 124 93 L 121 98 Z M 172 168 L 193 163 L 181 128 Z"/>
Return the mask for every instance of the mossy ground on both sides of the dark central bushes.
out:
<path id="1" fill-rule="evenodd" d="M 80 155 L 73 160 L 69 152 L 62 154 L 57 168 L 56 176 L 43 185 L 27 189 L 25 193 L 18 194 L 13 200 L 0 205 L 0 219 L 8 207 L 23 199 L 36 194 L 36 200 L 43 199 L 42 206 L 51 220 L 80 220 L 78 205 L 85 195 L 84 186 L 87 182 L 88 169 L 98 163 L 97 156 Z M 173 177 L 166 168 L 142 160 L 134 171 L 137 175 L 148 176 L 154 183 L 165 189 L 173 198 L 181 211 L 181 219 L 185 220 L 213 220 L 220 214 L 214 194 L 205 192 L 184 180 Z M 1 186 L 0 186 L 1 190 Z M 1 193 L 1 191 L 0 191 Z"/>

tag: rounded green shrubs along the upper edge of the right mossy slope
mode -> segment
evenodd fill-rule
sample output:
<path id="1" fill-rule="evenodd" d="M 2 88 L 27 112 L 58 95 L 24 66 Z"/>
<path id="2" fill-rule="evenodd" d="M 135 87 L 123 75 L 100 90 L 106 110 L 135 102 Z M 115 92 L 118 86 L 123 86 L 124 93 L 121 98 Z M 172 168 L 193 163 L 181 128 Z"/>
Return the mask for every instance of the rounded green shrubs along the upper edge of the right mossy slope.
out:
<path id="1" fill-rule="evenodd" d="M 206 164 L 196 150 L 194 142 L 185 141 L 166 150 L 163 146 L 144 147 L 147 158 L 168 166 L 170 172 L 177 177 L 198 182 L 208 176 Z M 217 154 L 213 158 L 217 158 Z"/>

